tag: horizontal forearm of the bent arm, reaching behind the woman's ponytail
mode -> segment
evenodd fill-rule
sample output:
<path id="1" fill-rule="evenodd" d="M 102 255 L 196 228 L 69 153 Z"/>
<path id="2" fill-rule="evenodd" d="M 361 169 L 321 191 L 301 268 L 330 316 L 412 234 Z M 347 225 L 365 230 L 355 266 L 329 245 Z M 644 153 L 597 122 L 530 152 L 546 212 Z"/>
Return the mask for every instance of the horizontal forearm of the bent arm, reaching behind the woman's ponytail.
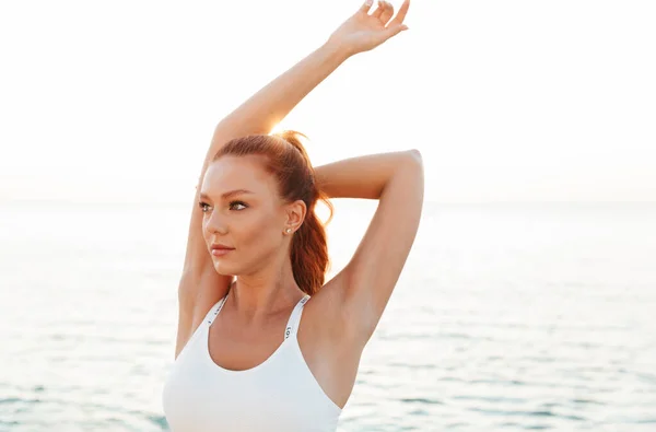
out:
<path id="1" fill-rule="evenodd" d="M 330 198 L 379 199 L 383 189 L 413 151 L 367 154 L 315 167 L 319 190 Z"/>

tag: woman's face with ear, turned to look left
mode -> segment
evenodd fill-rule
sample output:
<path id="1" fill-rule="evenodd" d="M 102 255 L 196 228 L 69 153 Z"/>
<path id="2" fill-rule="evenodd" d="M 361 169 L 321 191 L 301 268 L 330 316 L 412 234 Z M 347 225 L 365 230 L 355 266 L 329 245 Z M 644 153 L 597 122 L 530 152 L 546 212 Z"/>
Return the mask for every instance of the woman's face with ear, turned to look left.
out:
<path id="1" fill-rule="evenodd" d="M 283 250 L 286 253 L 288 226 L 295 231 L 298 202 L 285 205 L 276 179 L 265 170 L 266 156 L 222 156 L 212 162 L 200 188 L 203 209 L 202 232 L 208 250 L 220 275 L 251 273 Z M 233 247 L 214 256 L 212 243 Z"/>

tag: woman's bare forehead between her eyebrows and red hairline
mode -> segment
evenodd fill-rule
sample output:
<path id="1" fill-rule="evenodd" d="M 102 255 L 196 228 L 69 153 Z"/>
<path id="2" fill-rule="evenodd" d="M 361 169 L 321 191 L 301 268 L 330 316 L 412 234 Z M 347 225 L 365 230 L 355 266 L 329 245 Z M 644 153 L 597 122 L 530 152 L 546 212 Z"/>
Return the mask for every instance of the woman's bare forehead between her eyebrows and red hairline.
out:
<path id="1" fill-rule="evenodd" d="M 256 195 L 276 192 L 276 182 L 272 175 L 265 171 L 265 156 L 222 156 L 212 162 L 201 185 L 201 194 L 219 199 L 222 194 L 246 189 Z"/>

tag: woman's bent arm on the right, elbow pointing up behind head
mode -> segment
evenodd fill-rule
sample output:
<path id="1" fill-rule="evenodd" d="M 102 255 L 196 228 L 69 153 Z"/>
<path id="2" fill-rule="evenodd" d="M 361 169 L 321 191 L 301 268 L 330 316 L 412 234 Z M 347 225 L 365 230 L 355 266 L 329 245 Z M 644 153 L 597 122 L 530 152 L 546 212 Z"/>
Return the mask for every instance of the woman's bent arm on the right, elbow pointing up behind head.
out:
<path id="1" fill-rule="evenodd" d="M 379 163 L 379 165 L 378 165 Z M 339 167 L 342 170 L 340 171 Z M 378 208 L 347 266 L 315 300 L 337 304 L 341 340 L 361 347 L 374 332 L 414 242 L 423 206 L 423 162 L 418 150 L 336 162 L 321 172 L 335 197 L 378 199 Z M 337 299 L 335 301 L 333 299 Z"/>

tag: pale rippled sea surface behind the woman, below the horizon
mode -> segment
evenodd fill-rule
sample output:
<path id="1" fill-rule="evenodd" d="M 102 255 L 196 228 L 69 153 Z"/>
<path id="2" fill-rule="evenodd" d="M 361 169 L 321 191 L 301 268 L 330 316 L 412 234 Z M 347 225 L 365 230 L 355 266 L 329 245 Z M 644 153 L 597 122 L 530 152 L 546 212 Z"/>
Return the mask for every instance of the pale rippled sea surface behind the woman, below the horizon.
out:
<path id="1" fill-rule="evenodd" d="M 0 203 L 0 431 L 168 430 L 190 206 Z M 656 203 L 426 202 L 339 428 L 656 431 Z"/>

